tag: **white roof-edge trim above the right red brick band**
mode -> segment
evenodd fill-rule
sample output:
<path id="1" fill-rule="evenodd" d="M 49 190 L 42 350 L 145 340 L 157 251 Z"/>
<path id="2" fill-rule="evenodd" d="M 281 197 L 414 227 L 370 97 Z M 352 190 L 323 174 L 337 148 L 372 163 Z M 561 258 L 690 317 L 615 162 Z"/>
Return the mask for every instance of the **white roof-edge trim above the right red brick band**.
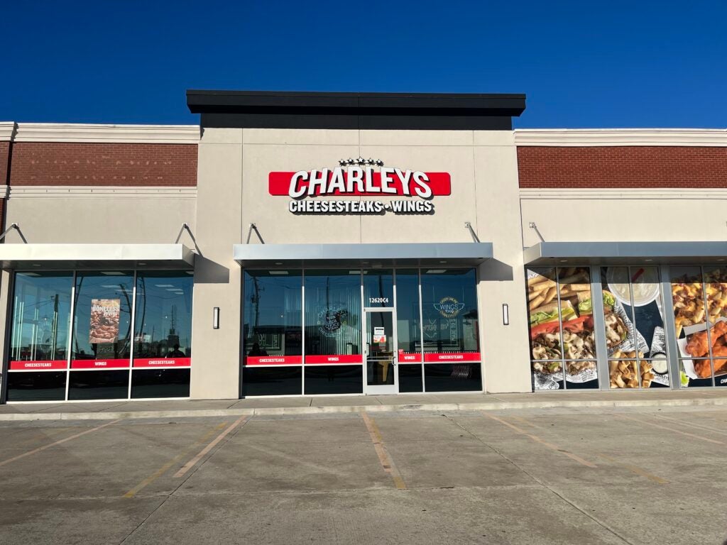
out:
<path id="1" fill-rule="evenodd" d="M 518 146 L 727 146 L 727 129 L 515 129 Z"/>

